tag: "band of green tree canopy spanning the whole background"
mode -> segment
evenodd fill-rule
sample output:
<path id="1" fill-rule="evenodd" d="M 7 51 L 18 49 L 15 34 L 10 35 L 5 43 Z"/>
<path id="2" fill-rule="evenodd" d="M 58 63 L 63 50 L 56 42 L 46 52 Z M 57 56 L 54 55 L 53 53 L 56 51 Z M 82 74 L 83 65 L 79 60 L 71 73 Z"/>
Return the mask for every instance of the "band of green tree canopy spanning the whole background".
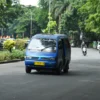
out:
<path id="1" fill-rule="evenodd" d="M 77 39 L 81 32 L 91 40 L 94 35 L 98 38 L 100 0 L 39 0 L 39 7 L 12 5 L 11 0 L 0 0 L 0 29 L 4 32 L 30 36 L 31 32 L 34 35 L 52 25 L 56 26 L 57 33 L 74 35 Z"/>

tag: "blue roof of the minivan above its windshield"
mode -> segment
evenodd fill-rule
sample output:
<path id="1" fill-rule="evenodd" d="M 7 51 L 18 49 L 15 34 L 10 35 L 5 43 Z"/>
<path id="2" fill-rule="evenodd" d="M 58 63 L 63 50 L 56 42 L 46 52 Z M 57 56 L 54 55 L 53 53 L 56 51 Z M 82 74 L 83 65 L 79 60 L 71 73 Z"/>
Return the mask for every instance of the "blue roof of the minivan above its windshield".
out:
<path id="1" fill-rule="evenodd" d="M 32 38 L 48 38 L 48 39 L 59 39 L 59 38 L 67 38 L 65 34 L 36 34 Z"/>

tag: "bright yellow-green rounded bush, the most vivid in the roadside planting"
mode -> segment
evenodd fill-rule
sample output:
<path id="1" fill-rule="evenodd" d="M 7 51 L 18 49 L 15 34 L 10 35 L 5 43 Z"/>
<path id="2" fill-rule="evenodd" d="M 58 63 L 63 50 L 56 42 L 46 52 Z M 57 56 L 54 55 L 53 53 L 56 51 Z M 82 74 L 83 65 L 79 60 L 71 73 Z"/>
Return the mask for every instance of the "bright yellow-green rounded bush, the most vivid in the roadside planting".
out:
<path id="1" fill-rule="evenodd" d="M 6 40 L 3 43 L 3 48 L 9 50 L 10 52 L 12 51 L 12 48 L 15 46 L 15 41 L 14 40 Z"/>

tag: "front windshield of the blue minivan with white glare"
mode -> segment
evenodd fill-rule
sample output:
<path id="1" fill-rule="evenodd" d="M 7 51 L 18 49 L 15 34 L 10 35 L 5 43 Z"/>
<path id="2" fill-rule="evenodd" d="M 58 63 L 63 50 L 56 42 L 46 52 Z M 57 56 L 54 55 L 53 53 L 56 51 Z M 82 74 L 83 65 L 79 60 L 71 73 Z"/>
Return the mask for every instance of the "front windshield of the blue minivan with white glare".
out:
<path id="1" fill-rule="evenodd" d="M 32 50 L 35 52 L 56 52 L 56 40 L 33 38 L 28 45 L 28 50 Z"/>

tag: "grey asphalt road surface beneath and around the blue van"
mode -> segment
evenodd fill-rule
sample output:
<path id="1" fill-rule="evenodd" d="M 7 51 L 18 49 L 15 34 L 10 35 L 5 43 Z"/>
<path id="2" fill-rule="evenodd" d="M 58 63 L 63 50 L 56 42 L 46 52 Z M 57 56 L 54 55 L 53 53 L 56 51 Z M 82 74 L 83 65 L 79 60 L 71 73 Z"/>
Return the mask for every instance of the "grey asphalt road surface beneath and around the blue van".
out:
<path id="1" fill-rule="evenodd" d="M 72 49 L 69 74 L 26 74 L 24 62 L 0 64 L 0 100 L 100 100 L 100 54 Z"/>

